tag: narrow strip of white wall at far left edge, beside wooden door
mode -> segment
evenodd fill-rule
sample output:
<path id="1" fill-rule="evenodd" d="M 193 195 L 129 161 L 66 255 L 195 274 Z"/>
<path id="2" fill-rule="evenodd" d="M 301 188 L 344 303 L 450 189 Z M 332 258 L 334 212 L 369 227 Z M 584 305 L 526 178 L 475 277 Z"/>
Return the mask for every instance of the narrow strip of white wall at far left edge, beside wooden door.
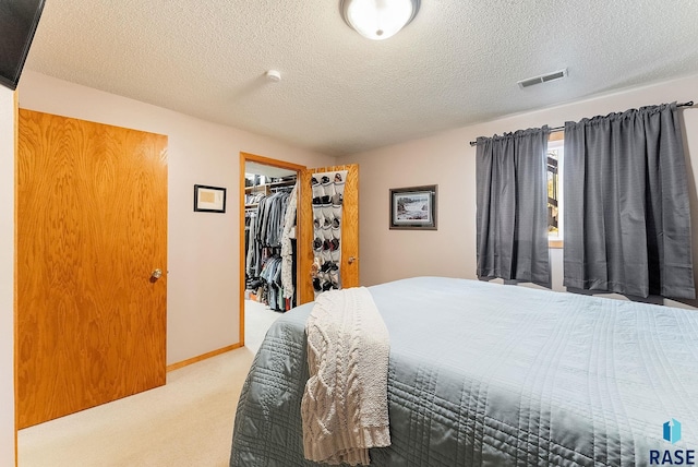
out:
<path id="1" fill-rule="evenodd" d="M 0 86 L 0 467 L 14 466 L 14 93 Z"/>

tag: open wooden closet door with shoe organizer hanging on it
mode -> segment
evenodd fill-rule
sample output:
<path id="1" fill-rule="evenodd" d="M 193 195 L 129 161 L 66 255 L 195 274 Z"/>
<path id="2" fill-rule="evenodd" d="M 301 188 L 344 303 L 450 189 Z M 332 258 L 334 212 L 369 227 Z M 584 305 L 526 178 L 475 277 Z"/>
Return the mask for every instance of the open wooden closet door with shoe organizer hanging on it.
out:
<path id="1" fill-rule="evenodd" d="M 313 202 L 311 179 L 313 173 L 348 170 L 345 183 L 344 207 L 341 214 L 341 274 L 342 288 L 359 286 L 359 166 L 350 164 L 313 168 L 300 171 L 299 200 L 299 304 L 314 299 L 311 266 L 313 264 Z"/>

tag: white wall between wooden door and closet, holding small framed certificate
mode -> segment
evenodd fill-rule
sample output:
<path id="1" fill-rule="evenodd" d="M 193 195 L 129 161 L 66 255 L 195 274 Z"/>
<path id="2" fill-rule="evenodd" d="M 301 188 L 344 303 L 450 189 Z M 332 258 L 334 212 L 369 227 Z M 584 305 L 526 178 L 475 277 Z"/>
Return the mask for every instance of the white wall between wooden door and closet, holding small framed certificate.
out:
<path id="1" fill-rule="evenodd" d="M 167 361 L 239 342 L 240 152 L 308 167 L 335 158 L 36 72 L 20 107 L 169 136 Z M 228 188 L 226 214 L 193 212 L 195 183 Z"/>

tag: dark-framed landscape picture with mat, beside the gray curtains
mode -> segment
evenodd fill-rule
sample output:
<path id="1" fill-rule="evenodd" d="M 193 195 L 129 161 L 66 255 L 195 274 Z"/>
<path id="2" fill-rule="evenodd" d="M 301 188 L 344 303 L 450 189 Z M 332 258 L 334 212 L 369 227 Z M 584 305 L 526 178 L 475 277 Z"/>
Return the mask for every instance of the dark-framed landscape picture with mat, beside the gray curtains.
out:
<path id="1" fill-rule="evenodd" d="M 390 229 L 436 230 L 436 184 L 390 189 Z"/>

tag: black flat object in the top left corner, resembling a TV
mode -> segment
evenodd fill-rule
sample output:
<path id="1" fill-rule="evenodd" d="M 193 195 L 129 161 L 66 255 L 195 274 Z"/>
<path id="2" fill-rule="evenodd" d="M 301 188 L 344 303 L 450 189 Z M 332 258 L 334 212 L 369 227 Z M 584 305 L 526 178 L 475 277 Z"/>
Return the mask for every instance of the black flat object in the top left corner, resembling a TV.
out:
<path id="1" fill-rule="evenodd" d="M 45 0 L 0 0 L 0 84 L 14 91 Z"/>

